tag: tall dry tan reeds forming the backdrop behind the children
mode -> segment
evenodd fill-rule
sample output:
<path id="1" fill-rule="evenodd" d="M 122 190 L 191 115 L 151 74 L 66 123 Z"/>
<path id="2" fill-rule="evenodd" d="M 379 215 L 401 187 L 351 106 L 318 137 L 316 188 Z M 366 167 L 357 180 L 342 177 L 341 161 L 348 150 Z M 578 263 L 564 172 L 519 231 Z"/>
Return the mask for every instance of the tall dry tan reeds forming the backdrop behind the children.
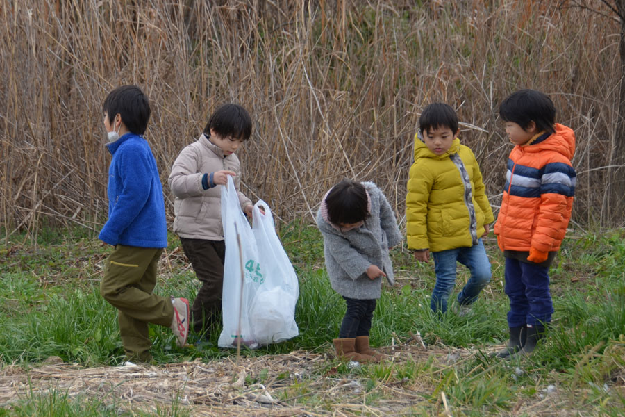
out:
<path id="1" fill-rule="evenodd" d="M 618 24 L 556 1 L 3 0 L 0 216 L 98 229 L 110 156 L 101 103 L 140 85 L 163 183 L 224 101 L 246 106 L 244 191 L 310 220 L 341 177 L 372 180 L 400 216 L 420 109 L 458 109 L 497 207 L 517 88 L 547 92 L 577 136 L 574 222 L 604 224 L 618 104 Z M 609 13 L 601 1 L 592 6 Z M 603 8 L 602 8 L 603 7 Z M 165 185 L 172 215 L 172 195 Z"/>

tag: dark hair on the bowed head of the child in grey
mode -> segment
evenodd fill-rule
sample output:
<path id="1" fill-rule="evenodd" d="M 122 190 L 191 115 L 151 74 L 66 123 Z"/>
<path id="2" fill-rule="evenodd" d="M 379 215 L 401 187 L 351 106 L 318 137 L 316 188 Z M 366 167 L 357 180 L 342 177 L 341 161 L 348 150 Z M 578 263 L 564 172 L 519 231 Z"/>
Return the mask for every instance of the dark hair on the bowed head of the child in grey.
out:
<path id="1" fill-rule="evenodd" d="M 369 198 L 363 184 L 344 179 L 326 197 L 328 220 L 334 224 L 353 224 L 369 217 Z"/>

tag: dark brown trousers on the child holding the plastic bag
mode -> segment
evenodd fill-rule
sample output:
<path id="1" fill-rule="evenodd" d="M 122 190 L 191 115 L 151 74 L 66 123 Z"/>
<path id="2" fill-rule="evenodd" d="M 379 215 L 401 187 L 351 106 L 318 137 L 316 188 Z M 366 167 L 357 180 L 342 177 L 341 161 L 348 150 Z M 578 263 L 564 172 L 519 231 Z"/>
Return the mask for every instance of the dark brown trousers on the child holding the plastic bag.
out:
<path id="1" fill-rule="evenodd" d="M 191 307 L 195 332 L 213 332 L 221 322 L 224 286 L 224 240 L 180 238 L 183 251 L 202 283 Z"/>

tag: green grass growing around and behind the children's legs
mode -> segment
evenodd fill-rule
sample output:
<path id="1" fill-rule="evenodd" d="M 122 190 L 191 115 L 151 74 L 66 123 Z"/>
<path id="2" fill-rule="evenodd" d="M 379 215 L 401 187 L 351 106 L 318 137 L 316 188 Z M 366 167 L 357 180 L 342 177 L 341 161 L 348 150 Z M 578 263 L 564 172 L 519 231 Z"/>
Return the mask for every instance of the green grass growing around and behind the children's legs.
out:
<path id="1" fill-rule="evenodd" d="M 299 276 L 296 320 L 300 335 L 257 350 L 243 350 L 243 354 L 260 357 L 294 350 L 331 352 L 331 340 L 338 336 L 345 305 L 329 284 L 323 240 L 315 227 L 299 223 L 282 225 L 279 234 Z M 124 352 L 117 312 L 99 295 L 103 260 L 110 248 L 78 231 L 65 237 L 40 232 L 38 238 L 36 246 L 28 246 L 16 237 L 0 252 L 0 367 L 2 363 L 36 365 L 51 356 L 84 366 L 118 365 Z M 156 293 L 192 300 L 199 283 L 178 246 L 176 236 L 169 236 L 168 256 L 160 265 Z M 418 330 L 428 351 L 442 354 L 358 368 L 331 359 L 313 375 L 290 381 L 278 398 L 331 409 L 328 398 L 313 386 L 319 378 L 337 377 L 356 381 L 351 383 L 353 389 L 365 393 L 365 403 L 372 406 L 392 398 L 387 387 L 397 386 L 417 393 L 430 411 L 440 410 L 444 397 L 458 415 L 472 416 L 510 412 L 519 401 L 541 402 L 554 395 L 548 391 L 551 387 L 549 390 L 567 398 L 570 409 L 619 415 L 625 405 L 625 234 L 615 231 L 565 240 L 551 270 L 556 313 L 549 336 L 532 357 L 515 363 L 494 359 L 485 352 L 506 340 L 508 311 L 503 257 L 494 239 L 487 238 L 486 247 L 493 278 L 465 317 L 433 314 L 429 308 L 435 281 L 433 263 L 415 263 L 405 248 L 392 251 L 397 285 L 385 286 L 378 300 L 371 344 L 399 345 Z M 457 288 L 467 278 L 466 268 L 459 265 Z M 185 349 L 175 347 L 174 336 L 165 327 L 151 326 L 150 336 L 156 364 L 211 361 L 235 354 L 217 347 L 217 332 L 208 339 L 192 335 L 193 345 Z M 450 352 L 447 355 L 446 349 Z M 453 357 L 457 349 L 474 354 L 461 360 Z M 248 375 L 246 384 L 290 378 L 288 373 L 272 375 L 272 370 L 265 368 Z M 422 413 L 421 407 L 415 407 L 414 414 Z M 112 399 L 79 400 L 53 392 L 31 393 L 11 405 L 11 414 L 0 410 L 0 416 L 107 416 L 124 412 Z M 164 407 L 156 412 L 178 416 L 186 411 Z"/>

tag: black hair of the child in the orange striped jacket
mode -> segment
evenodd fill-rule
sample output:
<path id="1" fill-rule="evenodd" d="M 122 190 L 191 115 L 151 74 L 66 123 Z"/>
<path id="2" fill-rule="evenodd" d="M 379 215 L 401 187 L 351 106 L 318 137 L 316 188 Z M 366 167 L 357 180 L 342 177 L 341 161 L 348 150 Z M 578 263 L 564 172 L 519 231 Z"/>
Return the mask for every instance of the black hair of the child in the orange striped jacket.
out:
<path id="1" fill-rule="evenodd" d="M 499 115 L 506 122 L 513 122 L 527 130 L 531 122 L 539 131 L 553 133 L 556 123 L 556 106 L 543 92 L 519 90 L 513 92 L 499 106 Z"/>

